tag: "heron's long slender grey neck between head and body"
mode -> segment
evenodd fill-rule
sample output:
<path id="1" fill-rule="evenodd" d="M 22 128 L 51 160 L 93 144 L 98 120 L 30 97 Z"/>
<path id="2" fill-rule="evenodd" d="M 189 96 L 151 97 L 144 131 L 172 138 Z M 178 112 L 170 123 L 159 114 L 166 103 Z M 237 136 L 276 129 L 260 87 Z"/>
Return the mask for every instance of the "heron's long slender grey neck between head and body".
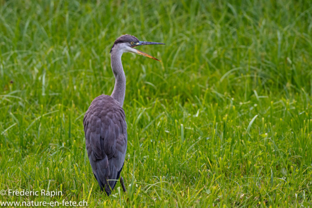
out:
<path id="1" fill-rule="evenodd" d="M 122 107 L 126 94 L 126 76 L 121 63 L 121 51 L 113 50 L 111 52 L 111 66 L 115 76 L 115 86 L 112 97 L 117 100 Z"/>

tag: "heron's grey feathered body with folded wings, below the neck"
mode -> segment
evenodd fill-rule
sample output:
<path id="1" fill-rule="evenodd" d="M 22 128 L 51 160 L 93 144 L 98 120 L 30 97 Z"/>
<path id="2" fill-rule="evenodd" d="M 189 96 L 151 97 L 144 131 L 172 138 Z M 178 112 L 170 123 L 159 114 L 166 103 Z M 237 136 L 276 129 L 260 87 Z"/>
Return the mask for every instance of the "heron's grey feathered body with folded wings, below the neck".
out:
<path id="1" fill-rule="evenodd" d="M 119 103 L 109 95 L 95 98 L 83 118 L 86 149 L 93 173 L 107 195 L 114 189 L 127 150 L 127 124 Z"/>

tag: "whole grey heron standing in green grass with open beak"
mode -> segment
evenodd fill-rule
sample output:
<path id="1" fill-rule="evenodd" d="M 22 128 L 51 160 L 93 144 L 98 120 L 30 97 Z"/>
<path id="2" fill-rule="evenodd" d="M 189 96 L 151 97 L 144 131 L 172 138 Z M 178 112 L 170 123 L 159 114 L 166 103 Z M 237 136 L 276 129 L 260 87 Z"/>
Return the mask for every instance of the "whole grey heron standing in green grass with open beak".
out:
<path id="1" fill-rule="evenodd" d="M 139 41 L 131 35 L 123 35 L 116 39 L 110 51 L 111 67 L 115 76 L 113 93 L 110 96 L 96 97 L 83 117 L 90 165 L 100 189 L 108 196 L 119 178 L 123 191 L 126 191 L 123 178 L 120 176 L 127 151 L 127 124 L 122 109 L 126 92 L 126 76 L 121 56 L 123 53 L 134 53 L 158 60 L 134 48 L 153 44 L 164 43 Z"/>

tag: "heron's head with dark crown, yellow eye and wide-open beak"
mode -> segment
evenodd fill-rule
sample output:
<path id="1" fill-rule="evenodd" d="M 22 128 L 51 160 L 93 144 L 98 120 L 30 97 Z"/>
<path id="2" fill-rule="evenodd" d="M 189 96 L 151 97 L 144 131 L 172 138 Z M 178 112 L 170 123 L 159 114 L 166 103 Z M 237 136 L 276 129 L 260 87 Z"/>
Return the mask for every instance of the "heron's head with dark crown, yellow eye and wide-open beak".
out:
<path id="1" fill-rule="evenodd" d="M 134 47 L 140 46 L 140 45 L 156 45 L 156 44 L 165 44 L 165 43 L 160 43 L 160 42 L 148 42 L 148 41 L 139 41 L 136 37 L 131 36 L 131 35 L 123 35 L 120 36 L 119 38 L 117 38 L 117 40 L 115 40 L 114 45 L 110 51 L 110 53 L 112 52 L 116 52 L 116 53 L 133 53 L 133 54 L 138 54 L 138 55 L 142 55 L 144 57 L 149 57 L 149 58 L 153 58 L 154 60 L 160 61 L 155 57 L 152 57 L 148 54 L 145 54 L 142 51 L 139 51 L 137 49 L 135 49 Z"/>

